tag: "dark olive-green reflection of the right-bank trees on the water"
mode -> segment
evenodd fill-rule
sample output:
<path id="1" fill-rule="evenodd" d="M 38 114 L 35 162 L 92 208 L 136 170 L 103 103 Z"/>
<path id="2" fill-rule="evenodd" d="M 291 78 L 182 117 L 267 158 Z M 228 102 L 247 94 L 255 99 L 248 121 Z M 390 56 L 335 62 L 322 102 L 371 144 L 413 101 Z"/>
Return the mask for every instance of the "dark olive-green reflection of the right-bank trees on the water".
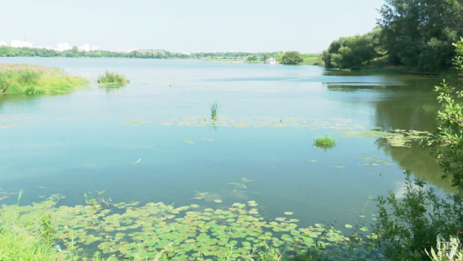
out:
<path id="1" fill-rule="evenodd" d="M 341 73 L 346 75 L 346 73 Z M 397 76 L 400 85 L 328 85 L 330 91 L 345 92 L 377 92 L 374 99 L 369 100 L 373 111 L 372 125 L 384 130 L 405 129 L 425 130 L 434 132 L 438 124 L 437 111 L 439 103 L 436 100 L 434 87 L 440 85 L 443 79 L 439 77 Z M 462 86 L 458 79 L 446 80 L 452 86 Z M 442 178 L 442 169 L 433 156 L 431 149 L 424 149 L 418 144 L 412 148 L 391 147 L 384 140 L 376 141 L 378 149 L 390 155 L 395 163 L 412 171 L 415 176 L 426 179 L 446 192 L 454 191 L 450 178 Z"/>

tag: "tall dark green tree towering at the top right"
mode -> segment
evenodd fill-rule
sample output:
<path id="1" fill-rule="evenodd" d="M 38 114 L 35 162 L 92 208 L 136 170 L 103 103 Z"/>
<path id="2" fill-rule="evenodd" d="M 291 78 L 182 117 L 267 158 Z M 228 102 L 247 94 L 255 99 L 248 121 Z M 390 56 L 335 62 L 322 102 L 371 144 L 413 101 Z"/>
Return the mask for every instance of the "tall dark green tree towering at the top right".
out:
<path id="1" fill-rule="evenodd" d="M 420 71 L 451 67 L 454 47 L 463 36 L 460 0 L 386 0 L 380 9 L 388 60 Z"/>

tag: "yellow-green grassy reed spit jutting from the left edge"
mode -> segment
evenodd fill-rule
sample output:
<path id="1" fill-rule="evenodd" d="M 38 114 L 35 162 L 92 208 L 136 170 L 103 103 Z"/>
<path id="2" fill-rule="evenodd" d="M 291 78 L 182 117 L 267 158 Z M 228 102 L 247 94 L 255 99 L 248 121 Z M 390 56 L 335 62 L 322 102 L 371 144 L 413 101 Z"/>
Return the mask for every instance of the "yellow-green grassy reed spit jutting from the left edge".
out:
<path id="1" fill-rule="evenodd" d="M 0 63 L 0 93 L 62 93 L 88 84 L 84 77 L 58 68 Z"/>

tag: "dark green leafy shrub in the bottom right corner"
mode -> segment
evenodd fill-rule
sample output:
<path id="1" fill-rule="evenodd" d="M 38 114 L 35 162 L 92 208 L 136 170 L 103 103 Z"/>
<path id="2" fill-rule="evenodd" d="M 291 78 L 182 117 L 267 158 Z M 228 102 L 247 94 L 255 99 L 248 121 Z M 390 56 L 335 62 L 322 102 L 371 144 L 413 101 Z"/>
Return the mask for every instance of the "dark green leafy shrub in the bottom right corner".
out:
<path id="1" fill-rule="evenodd" d="M 439 235 L 455 235 L 463 226 L 463 195 L 439 198 L 426 182 L 407 175 L 404 195 L 390 192 L 378 197 L 377 218 L 371 242 L 384 248 L 390 260 L 427 260 L 426 251 L 436 246 Z M 403 199 L 398 199 L 402 197 Z"/>

